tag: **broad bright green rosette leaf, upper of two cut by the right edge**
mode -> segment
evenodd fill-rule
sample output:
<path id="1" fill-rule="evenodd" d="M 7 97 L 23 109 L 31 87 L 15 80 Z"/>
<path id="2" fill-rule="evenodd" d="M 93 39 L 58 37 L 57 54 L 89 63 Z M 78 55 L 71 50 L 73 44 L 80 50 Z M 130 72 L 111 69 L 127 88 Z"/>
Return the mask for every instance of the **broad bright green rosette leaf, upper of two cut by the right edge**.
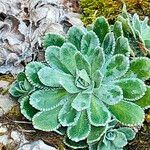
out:
<path id="1" fill-rule="evenodd" d="M 150 78 L 150 59 L 147 57 L 135 58 L 131 61 L 129 73 L 142 80 Z"/>

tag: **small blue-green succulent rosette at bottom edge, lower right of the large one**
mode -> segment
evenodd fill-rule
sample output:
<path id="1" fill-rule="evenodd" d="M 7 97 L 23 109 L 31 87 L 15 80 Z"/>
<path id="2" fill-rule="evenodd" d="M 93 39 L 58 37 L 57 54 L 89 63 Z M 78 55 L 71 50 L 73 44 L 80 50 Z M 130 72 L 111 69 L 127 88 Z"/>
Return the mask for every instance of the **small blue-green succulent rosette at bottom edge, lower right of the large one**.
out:
<path id="1" fill-rule="evenodd" d="M 128 144 L 128 141 L 133 140 L 135 131 L 129 127 L 118 127 L 116 120 L 111 120 L 107 126 L 103 127 L 105 130 L 100 131 L 100 136 L 94 139 L 95 142 L 89 145 L 91 150 L 123 150 L 123 147 Z"/>

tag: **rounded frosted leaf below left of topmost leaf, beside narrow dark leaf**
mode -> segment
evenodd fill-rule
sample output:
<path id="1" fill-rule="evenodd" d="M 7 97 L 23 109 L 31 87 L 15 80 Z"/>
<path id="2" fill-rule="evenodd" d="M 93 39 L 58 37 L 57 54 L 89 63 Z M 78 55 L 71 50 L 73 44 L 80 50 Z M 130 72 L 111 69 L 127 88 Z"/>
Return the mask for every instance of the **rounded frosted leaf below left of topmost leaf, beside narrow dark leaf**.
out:
<path id="1" fill-rule="evenodd" d="M 91 55 L 94 52 L 95 47 L 100 46 L 99 39 L 95 32 L 89 31 L 83 37 L 81 41 L 81 52 L 84 55 Z"/>

